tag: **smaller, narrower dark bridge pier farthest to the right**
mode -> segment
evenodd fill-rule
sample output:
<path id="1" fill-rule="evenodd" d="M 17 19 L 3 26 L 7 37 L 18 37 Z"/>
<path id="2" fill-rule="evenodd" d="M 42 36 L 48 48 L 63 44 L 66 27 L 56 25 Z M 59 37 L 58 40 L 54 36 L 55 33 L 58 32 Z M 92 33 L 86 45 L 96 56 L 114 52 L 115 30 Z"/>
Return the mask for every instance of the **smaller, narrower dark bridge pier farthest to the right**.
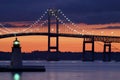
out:
<path id="1" fill-rule="evenodd" d="M 111 61 L 111 43 L 104 43 L 103 61 Z"/>

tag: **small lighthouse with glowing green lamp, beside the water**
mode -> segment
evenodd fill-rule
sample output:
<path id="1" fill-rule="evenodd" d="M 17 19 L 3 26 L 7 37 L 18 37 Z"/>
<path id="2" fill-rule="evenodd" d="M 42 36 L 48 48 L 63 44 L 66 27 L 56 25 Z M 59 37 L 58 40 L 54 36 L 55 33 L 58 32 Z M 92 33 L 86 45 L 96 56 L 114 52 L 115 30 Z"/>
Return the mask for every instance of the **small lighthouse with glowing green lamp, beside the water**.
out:
<path id="1" fill-rule="evenodd" d="M 13 41 L 11 67 L 12 68 L 22 67 L 21 47 L 20 42 L 18 41 L 17 38 L 15 39 L 15 41 Z"/>

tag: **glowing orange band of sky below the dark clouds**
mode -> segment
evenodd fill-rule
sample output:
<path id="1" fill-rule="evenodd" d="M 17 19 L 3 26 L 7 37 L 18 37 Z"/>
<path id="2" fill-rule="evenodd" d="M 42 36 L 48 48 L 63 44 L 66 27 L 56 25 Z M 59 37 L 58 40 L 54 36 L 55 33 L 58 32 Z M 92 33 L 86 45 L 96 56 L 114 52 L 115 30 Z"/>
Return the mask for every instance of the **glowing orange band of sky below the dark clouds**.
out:
<path id="1" fill-rule="evenodd" d="M 25 24 L 29 24 L 29 22 L 7 22 L 14 24 L 16 26 L 21 26 Z M 68 24 L 69 25 L 69 24 Z M 109 36 L 119 36 L 120 35 L 120 30 L 119 26 L 120 23 L 110 23 L 110 24 L 85 24 L 85 23 L 80 23 L 76 24 L 79 26 L 78 28 L 75 27 L 80 33 L 83 34 L 93 34 L 93 35 L 109 35 Z M 71 28 L 74 28 L 73 26 L 69 25 Z M 115 28 L 114 28 L 115 26 Z M 109 29 L 110 28 L 110 29 Z M 9 29 L 9 28 L 8 28 Z M 13 31 L 17 30 L 23 30 L 23 28 L 10 28 Z M 32 28 L 34 29 L 34 28 Z M 41 28 L 42 29 L 42 28 Z M 52 25 L 51 31 L 54 32 L 54 25 Z M 47 31 L 47 27 L 44 27 L 44 30 Z M 60 31 L 63 31 L 64 33 L 73 33 L 75 32 L 70 31 L 60 24 Z M 67 31 L 67 32 L 66 32 Z M 0 44 L 1 48 L 0 51 L 8 51 L 11 52 L 11 47 L 12 43 L 15 38 L 6 38 L 6 39 L 0 39 Z M 21 47 L 22 47 L 22 52 L 31 52 L 34 50 L 39 50 L 39 51 L 47 51 L 47 36 L 22 36 L 18 37 Z M 62 52 L 82 52 L 82 40 L 80 38 L 65 38 L 65 37 L 60 37 L 59 41 L 59 50 Z M 52 42 L 52 45 L 54 45 L 54 42 Z M 112 43 L 112 46 L 115 46 L 118 48 L 118 50 L 114 50 L 115 48 L 112 48 L 112 51 L 120 51 L 119 50 L 119 43 Z M 89 47 L 88 47 L 89 49 Z M 102 52 L 103 51 L 103 43 L 102 42 L 95 42 L 95 51 L 96 52 Z"/>

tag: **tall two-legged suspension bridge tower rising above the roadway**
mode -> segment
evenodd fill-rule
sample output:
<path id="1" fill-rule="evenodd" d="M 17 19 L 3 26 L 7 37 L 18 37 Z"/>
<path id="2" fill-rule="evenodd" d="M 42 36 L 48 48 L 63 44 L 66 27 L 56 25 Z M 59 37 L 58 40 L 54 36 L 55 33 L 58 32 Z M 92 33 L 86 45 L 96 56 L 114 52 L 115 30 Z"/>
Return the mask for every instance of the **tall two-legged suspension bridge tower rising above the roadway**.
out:
<path id="1" fill-rule="evenodd" d="M 51 21 L 52 21 L 52 17 L 54 16 L 54 19 L 55 19 L 55 23 L 56 23 L 56 30 L 55 30 L 55 33 L 56 35 L 52 35 L 52 28 L 51 28 Z M 51 52 L 51 51 L 55 51 L 55 52 L 58 52 L 59 50 L 59 37 L 58 37 L 58 33 L 59 33 L 59 21 L 58 19 L 55 17 L 55 16 L 58 16 L 58 10 L 57 9 L 49 9 L 48 10 L 48 52 Z M 56 43 L 54 46 L 51 45 L 51 41 L 52 39 L 55 39 Z"/>

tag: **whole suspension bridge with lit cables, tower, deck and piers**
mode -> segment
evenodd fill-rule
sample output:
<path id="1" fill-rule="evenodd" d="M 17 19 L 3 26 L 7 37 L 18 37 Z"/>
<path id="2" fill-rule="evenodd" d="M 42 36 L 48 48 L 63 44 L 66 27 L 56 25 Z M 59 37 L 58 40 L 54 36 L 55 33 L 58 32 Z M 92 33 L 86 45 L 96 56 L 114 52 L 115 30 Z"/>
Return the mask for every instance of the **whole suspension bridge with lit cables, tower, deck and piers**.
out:
<path id="1" fill-rule="evenodd" d="M 65 19 L 65 20 L 62 20 L 62 19 Z M 66 22 L 71 24 L 72 27 L 68 26 Z M 65 28 L 68 29 L 67 32 L 65 31 L 61 32 L 60 30 L 61 24 Z M 38 25 L 39 27 L 35 27 L 35 25 Z M 44 25 L 47 25 L 47 28 L 44 27 Z M 95 41 L 100 41 L 104 43 L 104 46 L 103 46 L 104 53 L 111 52 L 111 47 L 112 47 L 111 43 L 120 43 L 120 36 L 102 36 L 102 35 L 93 35 L 93 34 L 83 34 L 79 32 L 78 31 L 79 26 L 77 26 L 69 18 L 67 18 L 60 9 L 47 9 L 47 11 L 45 11 L 45 13 L 38 20 L 36 20 L 33 24 L 29 25 L 28 27 L 25 27 L 23 30 L 20 30 L 18 32 L 12 31 L 10 28 L 5 27 L 2 24 L 0 24 L 0 27 L 1 27 L 0 31 L 3 32 L 0 35 L 0 39 L 8 38 L 8 37 L 15 37 L 15 36 L 29 36 L 29 35 L 48 36 L 48 51 L 49 52 L 51 52 L 52 50 L 56 52 L 59 51 L 59 37 L 83 38 L 83 53 L 91 52 L 93 56 L 95 52 L 94 51 Z M 35 31 L 34 29 L 37 29 L 37 30 Z M 40 31 L 40 29 L 43 31 Z M 69 31 L 72 31 L 73 33 L 69 33 Z M 51 46 L 52 38 L 55 38 L 55 41 L 56 41 L 55 46 Z M 91 50 L 89 51 L 86 50 L 86 46 L 87 46 L 86 44 L 92 45 Z"/>

